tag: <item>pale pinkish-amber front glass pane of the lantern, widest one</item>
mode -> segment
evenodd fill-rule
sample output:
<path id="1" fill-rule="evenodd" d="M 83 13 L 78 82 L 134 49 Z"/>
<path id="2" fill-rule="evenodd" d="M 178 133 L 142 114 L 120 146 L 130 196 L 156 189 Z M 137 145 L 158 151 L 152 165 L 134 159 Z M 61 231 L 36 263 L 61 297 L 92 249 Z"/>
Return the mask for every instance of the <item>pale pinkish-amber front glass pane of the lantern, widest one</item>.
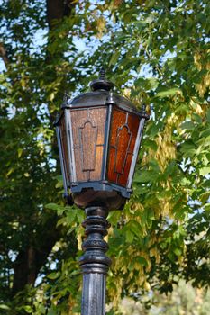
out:
<path id="1" fill-rule="evenodd" d="M 71 128 L 78 182 L 101 179 L 105 120 L 105 107 L 71 110 Z"/>

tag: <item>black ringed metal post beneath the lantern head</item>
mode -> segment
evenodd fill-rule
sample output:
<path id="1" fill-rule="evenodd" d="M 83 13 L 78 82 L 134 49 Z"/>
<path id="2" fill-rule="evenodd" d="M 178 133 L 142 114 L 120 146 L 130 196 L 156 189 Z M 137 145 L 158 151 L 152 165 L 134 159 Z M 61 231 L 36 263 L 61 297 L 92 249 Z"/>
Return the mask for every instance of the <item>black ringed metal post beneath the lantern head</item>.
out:
<path id="1" fill-rule="evenodd" d="M 87 219 L 83 222 L 86 240 L 84 255 L 79 259 L 83 273 L 81 315 L 105 315 L 105 278 L 111 259 L 105 256 L 108 245 L 103 239 L 109 223 L 107 209 L 95 206 L 86 208 Z"/>

